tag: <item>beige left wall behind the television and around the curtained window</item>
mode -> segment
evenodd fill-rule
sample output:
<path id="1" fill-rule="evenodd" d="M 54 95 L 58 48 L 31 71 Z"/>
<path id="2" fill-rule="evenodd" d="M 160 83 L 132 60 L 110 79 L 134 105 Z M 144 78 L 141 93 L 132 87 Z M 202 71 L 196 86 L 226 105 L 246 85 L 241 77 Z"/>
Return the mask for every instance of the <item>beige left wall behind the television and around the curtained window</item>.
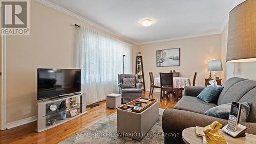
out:
<path id="1" fill-rule="evenodd" d="M 125 41 L 44 4 L 30 1 L 30 36 L 7 36 L 7 123 L 36 115 L 37 68 L 74 68 L 74 23 Z M 137 45 L 125 42 L 132 44 L 135 56 Z"/>

